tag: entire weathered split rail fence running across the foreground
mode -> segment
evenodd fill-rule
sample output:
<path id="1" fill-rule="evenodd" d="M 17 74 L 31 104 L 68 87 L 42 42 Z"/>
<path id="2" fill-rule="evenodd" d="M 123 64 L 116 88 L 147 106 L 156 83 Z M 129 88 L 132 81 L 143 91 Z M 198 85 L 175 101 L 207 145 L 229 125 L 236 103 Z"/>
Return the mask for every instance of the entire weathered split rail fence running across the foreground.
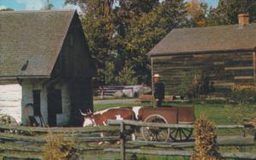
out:
<path id="1" fill-rule="evenodd" d="M 188 142 L 150 142 L 144 141 L 141 137 L 136 141 L 128 140 L 131 126 L 157 127 L 157 128 L 193 128 L 190 124 L 164 124 L 164 123 L 142 123 L 136 121 L 113 121 L 108 120 L 113 126 L 86 127 L 86 128 L 34 128 L 25 126 L 4 126 L 0 125 L 0 157 L 3 159 L 41 159 L 44 152 L 44 144 L 50 134 L 62 134 L 64 140 L 75 140 L 79 143 L 79 153 L 86 155 L 89 151 L 102 151 L 103 154 L 114 155 L 115 159 L 125 154 L 148 154 L 160 156 L 183 156 L 190 157 L 193 153 L 191 148 L 193 141 Z M 218 129 L 245 129 L 243 125 L 218 125 Z M 100 137 L 100 133 L 106 136 Z M 254 140 L 253 140 L 254 139 Z M 116 141 L 120 140 L 120 144 Z M 236 140 L 229 138 L 218 140 L 219 146 L 255 146 L 256 137 L 246 136 Z M 110 145 L 99 145 L 101 141 L 108 141 Z M 151 148 L 151 150 L 145 149 Z M 111 148 L 110 148 L 111 147 Z M 152 150 L 152 147 L 154 150 Z M 167 151 L 173 149 L 173 151 Z M 178 150 L 177 150 L 178 149 Z M 190 149 L 190 151 L 186 150 Z M 184 151 L 181 151 L 184 150 Z M 112 154 L 114 152 L 114 154 Z M 91 154 L 91 153 L 90 153 Z M 256 159 L 256 154 L 248 152 L 222 153 L 222 157 Z M 88 158 L 87 158 L 88 159 Z M 111 159 L 111 158 L 110 158 Z"/>

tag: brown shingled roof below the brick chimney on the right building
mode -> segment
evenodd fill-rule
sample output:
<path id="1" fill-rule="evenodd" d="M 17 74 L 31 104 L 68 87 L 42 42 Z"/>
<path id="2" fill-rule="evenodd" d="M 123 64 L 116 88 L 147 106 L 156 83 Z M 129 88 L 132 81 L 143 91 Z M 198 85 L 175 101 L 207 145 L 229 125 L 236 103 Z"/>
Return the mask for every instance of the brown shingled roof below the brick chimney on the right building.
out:
<path id="1" fill-rule="evenodd" d="M 256 24 L 173 29 L 149 55 L 188 54 L 256 47 Z"/>

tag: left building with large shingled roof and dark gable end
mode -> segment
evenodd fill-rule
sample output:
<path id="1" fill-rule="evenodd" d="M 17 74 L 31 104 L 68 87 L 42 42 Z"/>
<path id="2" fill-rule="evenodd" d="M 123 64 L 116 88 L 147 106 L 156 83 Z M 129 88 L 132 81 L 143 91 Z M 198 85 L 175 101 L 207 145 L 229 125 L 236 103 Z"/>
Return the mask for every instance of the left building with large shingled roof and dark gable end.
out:
<path id="1" fill-rule="evenodd" d="M 0 12 L 0 82 L 20 83 L 21 123 L 82 126 L 92 109 L 90 52 L 73 10 Z"/>

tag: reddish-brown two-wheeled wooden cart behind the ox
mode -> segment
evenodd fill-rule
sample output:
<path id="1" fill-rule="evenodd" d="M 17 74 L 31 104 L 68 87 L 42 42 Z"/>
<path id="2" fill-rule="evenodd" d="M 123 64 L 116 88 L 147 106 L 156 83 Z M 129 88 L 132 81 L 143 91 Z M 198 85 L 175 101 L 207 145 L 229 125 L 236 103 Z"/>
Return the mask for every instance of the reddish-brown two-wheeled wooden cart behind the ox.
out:
<path id="1" fill-rule="evenodd" d="M 139 111 L 139 120 L 145 123 L 191 124 L 195 121 L 195 108 L 194 106 L 145 107 Z M 141 129 L 144 140 L 149 141 L 167 141 L 169 138 L 174 141 L 186 141 L 189 140 L 192 132 L 193 129 L 185 128 L 143 127 Z"/>

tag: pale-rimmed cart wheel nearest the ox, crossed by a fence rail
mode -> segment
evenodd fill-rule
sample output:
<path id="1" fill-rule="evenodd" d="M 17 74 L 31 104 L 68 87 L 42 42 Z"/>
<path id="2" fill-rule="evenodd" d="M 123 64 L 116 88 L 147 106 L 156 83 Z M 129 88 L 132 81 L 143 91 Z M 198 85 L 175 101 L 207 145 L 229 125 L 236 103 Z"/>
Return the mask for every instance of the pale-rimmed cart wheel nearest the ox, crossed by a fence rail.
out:
<path id="1" fill-rule="evenodd" d="M 145 123 L 167 123 L 166 118 L 154 114 L 146 117 Z M 155 127 L 142 127 L 141 133 L 144 140 L 147 141 L 167 141 L 170 135 L 170 129 L 155 128 Z"/>

